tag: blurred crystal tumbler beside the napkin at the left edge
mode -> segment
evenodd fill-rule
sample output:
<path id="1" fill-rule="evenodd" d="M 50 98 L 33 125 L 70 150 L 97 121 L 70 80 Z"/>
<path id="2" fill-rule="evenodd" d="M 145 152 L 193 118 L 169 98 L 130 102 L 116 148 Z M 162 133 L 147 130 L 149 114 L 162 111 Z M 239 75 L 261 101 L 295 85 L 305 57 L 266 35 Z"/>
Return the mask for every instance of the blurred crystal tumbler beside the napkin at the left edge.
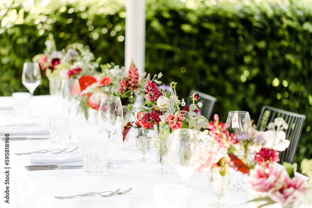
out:
<path id="1" fill-rule="evenodd" d="M 50 142 L 66 144 L 70 139 L 70 128 L 68 117 L 50 118 Z"/>

